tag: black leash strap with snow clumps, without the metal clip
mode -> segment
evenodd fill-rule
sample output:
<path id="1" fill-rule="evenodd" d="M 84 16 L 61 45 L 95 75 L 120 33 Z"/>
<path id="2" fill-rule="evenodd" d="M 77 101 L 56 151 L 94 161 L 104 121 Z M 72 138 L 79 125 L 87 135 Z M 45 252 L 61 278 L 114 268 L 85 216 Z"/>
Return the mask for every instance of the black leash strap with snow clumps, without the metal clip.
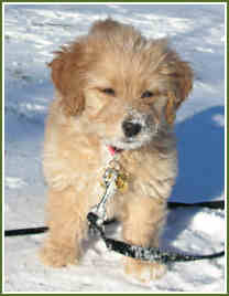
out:
<path id="1" fill-rule="evenodd" d="M 181 202 L 167 202 L 168 209 L 176 209 L 181 207 L 204 207 L 209 209 L 225 209 L 225 201 L 207 201 L 207 202 L 197 202 L 197 203 L 181 203 Z M 102 225 L 98 224 L 99 216 L 89 212 L 87 215 L 89 225 L 92 230 L 96 230 L 100 237 L 106 243 L 106 246 L 115 252 L 118 252 L 124 256 L 138 258 L 141 261 L 155 262 L 160 261 L 162 263 L 170 262 L 187 262 L 187 261 L 197 261 L 197 260 L 209 260 L 216 258 L 225 255 L 225 251 L 219 253 L 214 253 L 209 255 L 190 255 L 184 253 L 176 253 L 171 251 L 162 251 L 157 247 L 143 247 L 139 245 L 131 245 L 121 241 L 113 239 L 108 239 L 105 235 L 102 225 L 108 224 L 109 221 L 106 221 Z M 15 236 L 15 235 L 29 235 L 29 234 L 39 234 L 44 233 L 48 228 L 31 228 L 31 229 L 18 229 L 18 230 L 7 230 L 4 231 L 4 236 Z"/>

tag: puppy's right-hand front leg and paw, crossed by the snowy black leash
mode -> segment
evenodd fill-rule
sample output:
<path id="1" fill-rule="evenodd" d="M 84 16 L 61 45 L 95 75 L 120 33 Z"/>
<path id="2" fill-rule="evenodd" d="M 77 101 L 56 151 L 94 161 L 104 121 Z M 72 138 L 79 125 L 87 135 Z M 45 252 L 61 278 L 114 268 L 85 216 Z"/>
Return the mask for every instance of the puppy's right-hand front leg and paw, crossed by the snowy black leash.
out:
<path id="1" fill-rule="evenodd" d="M 165 202 L 153 198 L 131 200 L 123 215 L 123 239 L 141 246 L 159 246 L 159 234 L 166 214 Z M 161 277 L 166 268 L 160 263 L 124 258 L 124 271 L 141 282 Z"/>

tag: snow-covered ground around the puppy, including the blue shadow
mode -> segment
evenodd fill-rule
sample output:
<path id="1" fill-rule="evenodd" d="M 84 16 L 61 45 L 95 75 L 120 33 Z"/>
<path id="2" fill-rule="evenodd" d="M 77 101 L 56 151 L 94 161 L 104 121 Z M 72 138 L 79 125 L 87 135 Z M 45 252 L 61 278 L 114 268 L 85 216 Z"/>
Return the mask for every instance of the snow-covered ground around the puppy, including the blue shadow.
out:
<path id="1" fill-rule="evenodd" d="M 7 4 L 4 6 L 4 229 L 44 225 L 41 168 L 44 119 L 53 97 L 45 63 L 59 45 L 112 17 L 152 38 L 168 36 L 195 70 L 195 86 L 181 108 L 176 134 L 181 175 L 172 200 L 225 197 L 223 4 Z M 108 234 L 113 226 L 108 228 Z M 118 236 L 120 228 L 116 229 Z M 225 213 L 177 209 L 170 213 L 163 245 L 194 253 L 223 249 Z M 225 258 L 176 263 L 150 284 L 127 277 L 121 256 L 101 242 L 80 266 L 53 269 L 36 256 L 45 234 L 4 241 L 6 292 L 165 293 L 225 292 Z"/>

